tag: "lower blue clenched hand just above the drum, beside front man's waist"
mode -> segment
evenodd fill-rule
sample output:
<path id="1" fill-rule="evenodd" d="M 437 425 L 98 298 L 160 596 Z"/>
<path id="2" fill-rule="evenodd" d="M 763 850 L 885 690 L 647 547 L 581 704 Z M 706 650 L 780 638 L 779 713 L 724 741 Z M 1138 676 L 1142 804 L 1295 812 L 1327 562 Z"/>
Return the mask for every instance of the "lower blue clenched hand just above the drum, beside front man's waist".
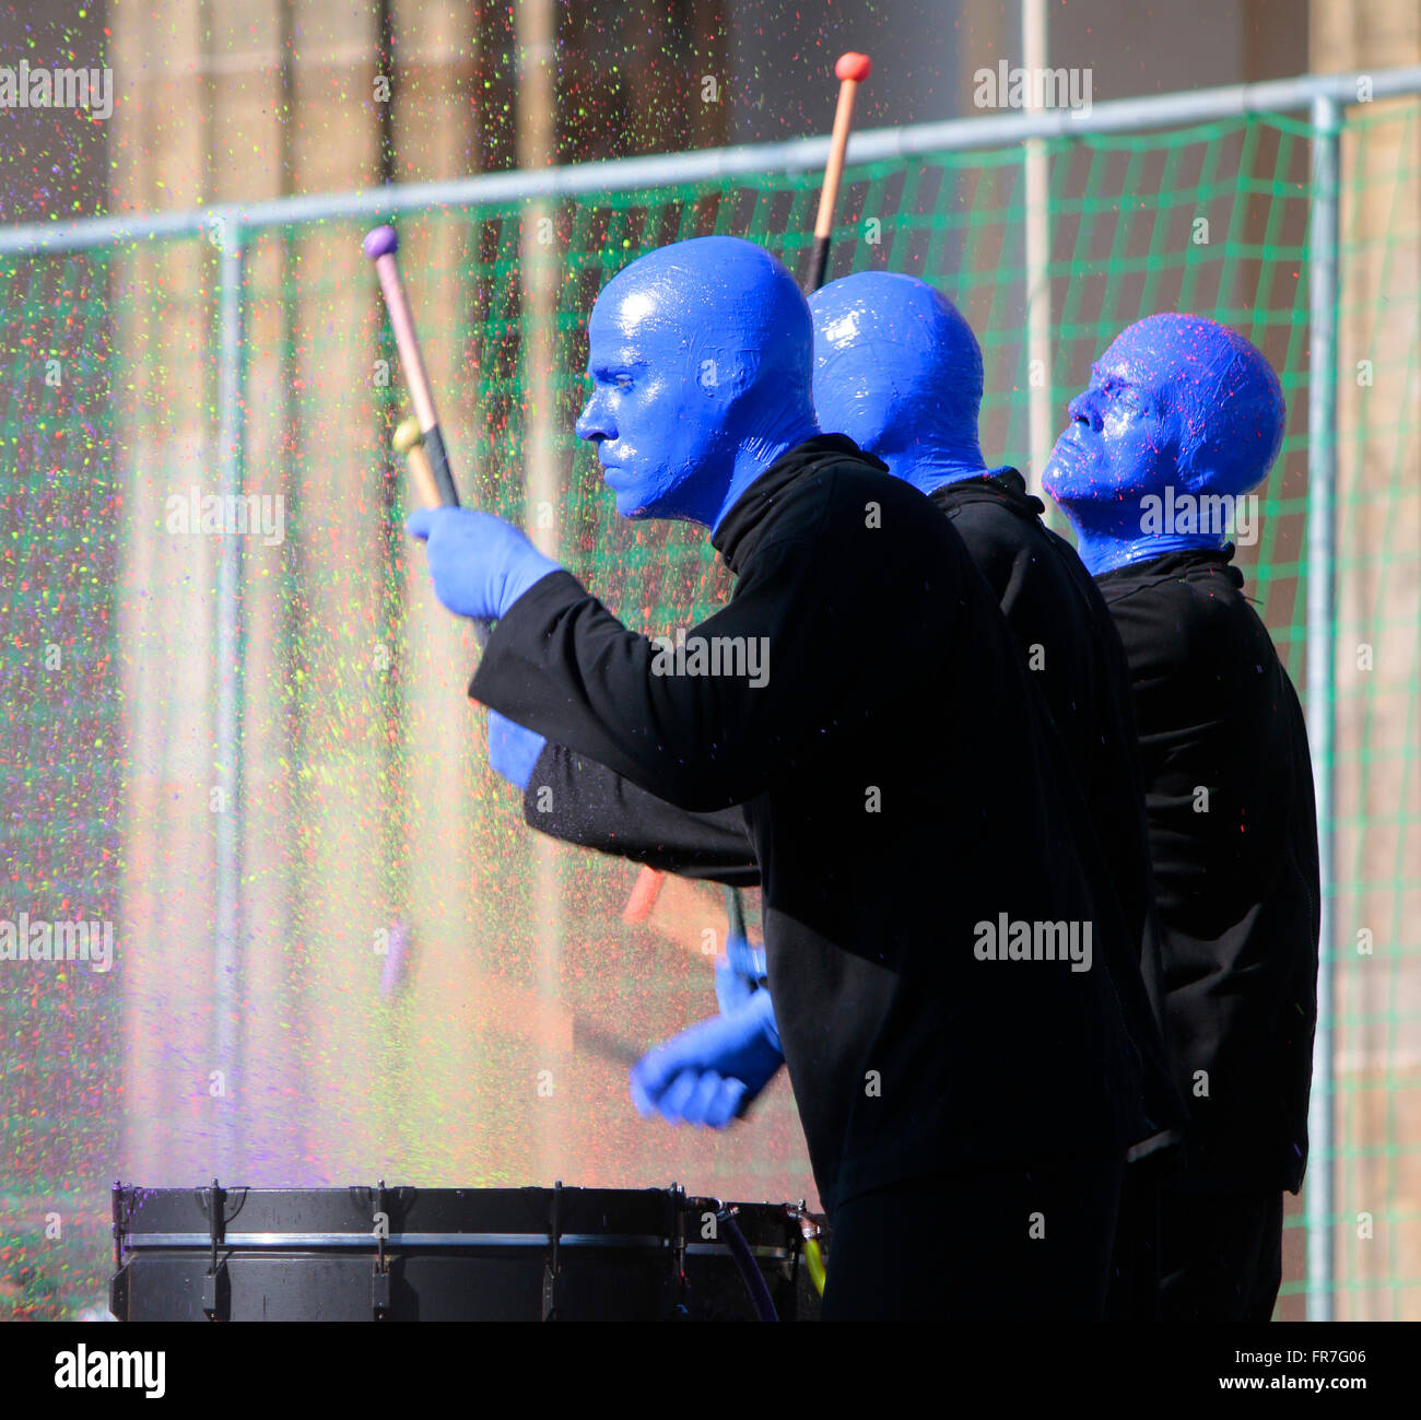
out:
<path id="1" fill-rule="evenodd" d="M 644 1117 L 728 1129 L 783 1063 L 770 994 L 756 991 L 642 1056 L 630 1072 L 631 1099 Z"/>

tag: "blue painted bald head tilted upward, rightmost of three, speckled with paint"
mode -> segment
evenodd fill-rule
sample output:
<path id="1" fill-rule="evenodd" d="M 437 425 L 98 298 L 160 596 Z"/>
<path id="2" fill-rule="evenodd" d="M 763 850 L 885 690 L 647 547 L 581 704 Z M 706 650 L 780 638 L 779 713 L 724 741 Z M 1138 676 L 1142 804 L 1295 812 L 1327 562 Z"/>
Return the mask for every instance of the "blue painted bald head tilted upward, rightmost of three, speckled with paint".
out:
<path id="1" fill-rule="evenodd" d="M 1242 335 L 1202 316 L 1148 316 L 1091 367 L 1042 485 L 1093 573 L 1222 547 L 1219 513 L 1268 476 L 1285 414 L 1277 375 Z"/>

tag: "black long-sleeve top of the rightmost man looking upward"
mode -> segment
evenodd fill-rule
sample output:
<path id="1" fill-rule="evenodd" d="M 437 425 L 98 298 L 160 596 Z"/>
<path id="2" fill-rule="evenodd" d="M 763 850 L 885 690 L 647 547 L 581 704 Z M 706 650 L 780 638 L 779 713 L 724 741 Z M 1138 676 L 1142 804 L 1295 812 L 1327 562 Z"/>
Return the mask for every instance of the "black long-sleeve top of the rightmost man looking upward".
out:
<path id="1" fill-rule="evenodd" d="M 1289 1188 L 1307 1163 L 1317 817 L 1307 728 L 1225 552 L 1097 579 L 1135 695 L 1185 1187 Z"/>

